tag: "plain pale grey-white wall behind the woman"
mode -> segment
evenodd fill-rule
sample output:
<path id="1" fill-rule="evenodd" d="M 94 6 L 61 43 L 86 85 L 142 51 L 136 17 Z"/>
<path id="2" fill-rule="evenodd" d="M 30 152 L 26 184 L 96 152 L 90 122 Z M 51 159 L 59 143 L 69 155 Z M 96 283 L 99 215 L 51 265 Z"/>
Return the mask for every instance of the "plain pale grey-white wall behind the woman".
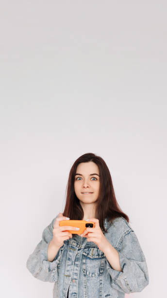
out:
<path id="1" fill-rule="evenodd" d="M 166 296 L 167 2 L 17 0 L 0 8 L 0 294 L 52 298 L 26 261 L 63 212 L 74 161 L 106 162 Z"/>

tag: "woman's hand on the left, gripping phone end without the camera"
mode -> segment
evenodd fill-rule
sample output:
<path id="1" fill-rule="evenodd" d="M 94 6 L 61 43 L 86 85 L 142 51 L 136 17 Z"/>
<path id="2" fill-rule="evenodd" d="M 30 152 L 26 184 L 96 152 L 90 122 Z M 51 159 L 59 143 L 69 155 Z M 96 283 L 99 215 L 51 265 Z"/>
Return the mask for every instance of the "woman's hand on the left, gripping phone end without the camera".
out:
<path id="1" fill-rule="evenodd" d="M 59 216 L 55 219 L 53 225 L 53 239 L 52 242 L 55 243 L 57 247 L 61 247 L 65 240 L 72 238 L 72 234 L 70 232 L 64 232 L 65 230 L 77 230 L 76 227 L 71 225 L 59 225 L 60 221 L 67 221 L 66 216 L 63 216 L 62 213 L 59 213 Z"/>

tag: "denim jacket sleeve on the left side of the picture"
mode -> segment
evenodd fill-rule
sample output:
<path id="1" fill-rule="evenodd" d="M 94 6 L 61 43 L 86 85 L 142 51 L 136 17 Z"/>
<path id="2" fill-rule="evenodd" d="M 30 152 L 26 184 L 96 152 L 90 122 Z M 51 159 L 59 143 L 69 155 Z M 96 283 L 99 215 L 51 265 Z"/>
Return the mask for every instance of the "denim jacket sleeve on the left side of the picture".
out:
<path id="1" fill-rule="evenodd" d="M 60 265 L 63 246 L 58 250 L 54 260 L 48 261 L 48 246 L 53 238 L 52 230 L 55 219 L 43 230 L 42 240 L 37 244 L 26 262 L 26 267 L 33 277 L 42 281 L 55 282 L 58 280 L 57 266 Z"/>

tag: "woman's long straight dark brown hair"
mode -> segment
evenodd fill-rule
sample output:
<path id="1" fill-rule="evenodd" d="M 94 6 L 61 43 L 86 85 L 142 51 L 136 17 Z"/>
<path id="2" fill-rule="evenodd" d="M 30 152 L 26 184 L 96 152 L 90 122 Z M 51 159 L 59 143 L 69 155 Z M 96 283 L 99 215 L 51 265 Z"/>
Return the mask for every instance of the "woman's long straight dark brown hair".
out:
<path id="1" fill-rule="evenodd" d="M 85 153 L 81 155 L 73 164 L 69 172 L 66 192 L 67 199 L 63 212 L 63 216 L 67 216 L 72 220 L 82 220 L 84 213 L 83 208 L 80 205 L 80 200 L 77 198 L 74 190 L 74 179 L 77 166 L 80 163 L 86 163 L 92 161 L 97 164 L 100 173 L 100 191 L 99 198 L 96 205 L 96 217 L 99 219 L 101 230 L 106 232 L 104 227 L 104 219 L 108 218 L 111 223 L 117 217 L 123 217 L 129 223 L 129 217 L 121 210 L 117 203 L 114 187 L 111 179 L 110 171 L 104 162 L 104 160 L 94 153 Z M 73 234 L 75 235 L 75 234 Z"/>

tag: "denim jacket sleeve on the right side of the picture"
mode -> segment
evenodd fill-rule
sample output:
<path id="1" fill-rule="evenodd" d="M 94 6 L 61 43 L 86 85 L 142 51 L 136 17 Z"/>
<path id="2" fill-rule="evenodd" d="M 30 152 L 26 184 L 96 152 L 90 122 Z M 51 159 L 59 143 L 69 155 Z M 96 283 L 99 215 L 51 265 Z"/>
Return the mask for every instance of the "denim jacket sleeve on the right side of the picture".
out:
<path id="1" fill-rule="evenodd" d="M 123 293 L 141 292 L 149 284 L 149 273 L 145 256 L 134 231 L 127 231 L 122 235 L 116 247 L 122 271 L 109 267 L 111 285 Z"/>

